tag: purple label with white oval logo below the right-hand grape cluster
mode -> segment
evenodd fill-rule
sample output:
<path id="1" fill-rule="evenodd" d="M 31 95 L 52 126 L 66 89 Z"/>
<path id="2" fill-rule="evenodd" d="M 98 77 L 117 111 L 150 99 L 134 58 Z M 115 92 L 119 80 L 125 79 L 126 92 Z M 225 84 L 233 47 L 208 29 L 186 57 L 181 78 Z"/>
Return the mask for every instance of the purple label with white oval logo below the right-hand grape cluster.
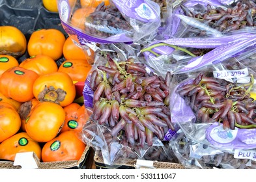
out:
<path id="1" fill-rule="evenodd" d="M 252 149 L 256 147 L 256 129 L 223 129 L 218 122 L 206 129 L 206 138 L 217 148 Z"/>

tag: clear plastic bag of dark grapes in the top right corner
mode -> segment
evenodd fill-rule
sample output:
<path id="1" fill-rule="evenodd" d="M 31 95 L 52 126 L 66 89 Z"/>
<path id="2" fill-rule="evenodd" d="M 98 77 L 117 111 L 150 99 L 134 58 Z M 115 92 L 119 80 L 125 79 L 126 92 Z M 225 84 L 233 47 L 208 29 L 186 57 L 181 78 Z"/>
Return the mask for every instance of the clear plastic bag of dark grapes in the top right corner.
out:
<path id="1" fill-rule="evenodd" d="M 197 1 L 173 4 L 170 37 L 221 37 L 255 32 L 254 1 Z"/>

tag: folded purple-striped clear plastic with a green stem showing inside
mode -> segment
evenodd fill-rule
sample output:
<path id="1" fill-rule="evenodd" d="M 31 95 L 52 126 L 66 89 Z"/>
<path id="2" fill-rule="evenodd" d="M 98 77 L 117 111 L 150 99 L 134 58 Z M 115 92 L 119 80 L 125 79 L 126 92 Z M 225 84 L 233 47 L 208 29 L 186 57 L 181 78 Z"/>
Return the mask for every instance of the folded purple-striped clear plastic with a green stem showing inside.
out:
<path id="1" fill-rule="evenodd" d="M 157 72 L 186 73 L 255 49 L 255 34 L 220 38 L 170 38 L 141 49 L 146 64 Z"/>

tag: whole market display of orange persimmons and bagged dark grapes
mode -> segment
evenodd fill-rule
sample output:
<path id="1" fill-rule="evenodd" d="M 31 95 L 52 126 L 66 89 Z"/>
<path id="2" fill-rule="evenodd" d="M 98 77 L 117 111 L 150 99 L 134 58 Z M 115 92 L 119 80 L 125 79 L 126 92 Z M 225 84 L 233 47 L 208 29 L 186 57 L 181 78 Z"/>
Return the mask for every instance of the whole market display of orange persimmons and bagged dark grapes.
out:
<path id="1" fill-rule="evenodd" d="M 255 1 L 119 4 L 3 1 L 33 13 L 0 21 L 0 162 L 256 168 Z"/>

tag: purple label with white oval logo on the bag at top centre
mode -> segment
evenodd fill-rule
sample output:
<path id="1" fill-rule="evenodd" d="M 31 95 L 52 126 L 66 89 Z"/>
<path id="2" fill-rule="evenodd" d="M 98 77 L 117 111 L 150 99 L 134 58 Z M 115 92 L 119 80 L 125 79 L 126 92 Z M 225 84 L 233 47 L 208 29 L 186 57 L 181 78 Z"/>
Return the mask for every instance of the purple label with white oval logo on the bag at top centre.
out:
<path id="1" fill-rule="evenodd" d="M 155 21 L 159 18 L 159 6 L 158 4 L 154 2 L 155 8 L 158 7 L 158 12 L 152 8 L 150 3 L 147 3 L 145 1 L 139 0 L 139 1 L 131 1 L 131 0 L 113 0 L 113 3 L 119 11 L 124 14 L 125 16 L 128 16 L 129 18 L 138 19 L 139 21 L 143 21 L 145 23 L 149 21 Z"/>

